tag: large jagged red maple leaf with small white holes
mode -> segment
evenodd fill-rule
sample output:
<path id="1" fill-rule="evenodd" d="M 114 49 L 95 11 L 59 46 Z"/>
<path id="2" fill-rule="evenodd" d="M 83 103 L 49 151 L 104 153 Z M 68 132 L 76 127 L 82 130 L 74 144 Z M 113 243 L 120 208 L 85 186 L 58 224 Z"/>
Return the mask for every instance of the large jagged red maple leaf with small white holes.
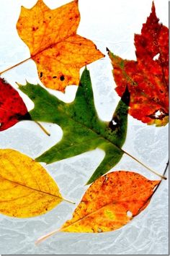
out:
<path id="1" fill-rule="evenodd" d="M 135 35 L 137 61 L 115 56 L 109 50 L 118 95 L 128 85 L 129 113 L 138 120 L 156 126 L 169 121 L 169 30 L 159 22 L 156 9 L 152 11 L 141 35 Z"/>

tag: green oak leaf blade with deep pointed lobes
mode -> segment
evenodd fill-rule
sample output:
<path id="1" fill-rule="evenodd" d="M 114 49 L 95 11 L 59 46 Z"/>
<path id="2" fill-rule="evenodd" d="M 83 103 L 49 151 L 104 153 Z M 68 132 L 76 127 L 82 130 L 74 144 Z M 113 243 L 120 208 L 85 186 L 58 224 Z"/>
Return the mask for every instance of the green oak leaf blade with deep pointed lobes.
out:
<path id="1" fill-rule="evenodd" d="M 97 115 L 91 78 L 86 68 L 81 75 L 76 99 L 72 103 L 63 103 L 40 85 L 27 83 L 19 86 L 19 89 L 35 103 L 35 108 L 30 111 L 33 121 L 58 124 L 63 129 L 62 140 L 37 157 L 36 161 L 53 163 L 101 148 L 105 152 L 104 159 L 87 184 L 107 173 L 120 161 L 124 153 L 121 148 L 125 142 L 128 127 L 130 102 L 128 88 L 109 122 L 100 120 Z"/>

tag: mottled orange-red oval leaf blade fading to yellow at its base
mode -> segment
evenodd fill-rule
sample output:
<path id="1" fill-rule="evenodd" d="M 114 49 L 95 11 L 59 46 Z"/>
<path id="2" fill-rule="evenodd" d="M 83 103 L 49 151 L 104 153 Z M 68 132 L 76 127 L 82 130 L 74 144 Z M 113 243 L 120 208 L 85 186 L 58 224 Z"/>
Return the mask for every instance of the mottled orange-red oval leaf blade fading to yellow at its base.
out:
<path id="1" fill-rule="evenodd" d="M 148 205 L 160 181 L 130 171 L 114 171 L 97 179 L 61 231 L 105 232 L 120 229 Z"/>

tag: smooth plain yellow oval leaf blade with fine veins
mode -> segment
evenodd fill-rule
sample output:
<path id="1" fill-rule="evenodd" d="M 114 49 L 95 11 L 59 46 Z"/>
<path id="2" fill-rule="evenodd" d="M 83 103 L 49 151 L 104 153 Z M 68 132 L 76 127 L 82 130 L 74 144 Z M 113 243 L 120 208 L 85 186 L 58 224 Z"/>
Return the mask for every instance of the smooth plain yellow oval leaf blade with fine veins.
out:
<path id="1" fill-rule="evenodd" d="M 0 150 L 0 213 L 28 218 L 53 209 L 62 200 L 45 168 L 15 150 Z"/>

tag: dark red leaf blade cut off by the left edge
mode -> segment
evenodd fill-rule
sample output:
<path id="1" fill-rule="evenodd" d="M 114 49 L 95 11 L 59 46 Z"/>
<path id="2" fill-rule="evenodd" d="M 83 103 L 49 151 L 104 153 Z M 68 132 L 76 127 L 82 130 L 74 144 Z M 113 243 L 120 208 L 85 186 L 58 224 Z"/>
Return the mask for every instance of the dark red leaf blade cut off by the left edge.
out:
<path id="1" fill-rule="evenodd" d="M 24 101 L 12 85 L 0 78 L 0 131 L 23 119 L 30 119 Z"/>

